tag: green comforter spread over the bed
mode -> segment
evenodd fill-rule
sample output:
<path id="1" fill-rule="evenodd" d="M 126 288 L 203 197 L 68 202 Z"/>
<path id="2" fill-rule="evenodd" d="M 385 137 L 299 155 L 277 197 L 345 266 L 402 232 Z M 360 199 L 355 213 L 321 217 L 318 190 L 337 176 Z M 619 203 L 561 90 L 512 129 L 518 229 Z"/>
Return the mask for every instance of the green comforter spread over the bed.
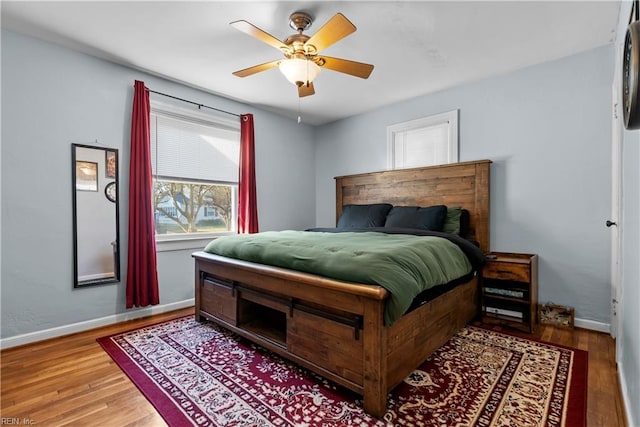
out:
<path id="1" fill-rule="evenodd" d="M 422 291 L 471 272 L 462 250 L 433 236 L 378 232 L 267 231 L 219 237 L 205 252 L 348 282 L 377 284 L 391 294 L 391 325 Z"/>

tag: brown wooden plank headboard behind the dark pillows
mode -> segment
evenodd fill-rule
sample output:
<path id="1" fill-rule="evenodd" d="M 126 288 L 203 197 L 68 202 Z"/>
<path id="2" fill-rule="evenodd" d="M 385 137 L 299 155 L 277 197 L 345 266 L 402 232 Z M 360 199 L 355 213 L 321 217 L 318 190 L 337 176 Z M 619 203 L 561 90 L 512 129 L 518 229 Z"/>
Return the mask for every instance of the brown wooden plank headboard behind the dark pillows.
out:
<path id="1" fill-rule="evenodd" d="M 469 211 L 469 235 L 489 252 L 489 169 L 491 160 L 396 169 L 336 180 L 336 223 L 350 204 L 394 206 L 460 206 Z"/>

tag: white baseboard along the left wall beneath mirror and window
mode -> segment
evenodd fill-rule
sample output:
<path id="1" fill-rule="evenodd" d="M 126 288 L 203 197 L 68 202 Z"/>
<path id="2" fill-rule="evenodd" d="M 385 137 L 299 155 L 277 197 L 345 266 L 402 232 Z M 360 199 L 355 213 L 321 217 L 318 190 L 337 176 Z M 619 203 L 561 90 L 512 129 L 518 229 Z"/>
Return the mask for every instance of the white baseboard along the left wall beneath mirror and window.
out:
<path id="1" fill-rule="evenodd" d="M 181 308 L 191 307 L 194 305 L 194 299 L 178 301 L 171 304 L 154 305 L 144 307 L 139 310 L 131 310 L 124 313 L 117 313 L 111 316 L 100 317 L 98 319 L 85 320 L 83 322 L 72 323 L 70 325 L 58 326 L 55 328 L 45 329 L 42 331 L 29 332 L 28 334 L 16 335 L 14 337 L 0 339 L 0 350 L 5 348 L 16 347 L 24 344 L 31 344 L 37 341 L 49 338 L 57 338 L 63 335 L 75 334 L 76 332 L 88 331 L 89 329 L 99 328 L 101 326 L 113 325 L 114 323 L 124 322 L 127 320 L 138 319 L 140 317 L 151 316 L 154 314 L 166 313 L 168 311 L 179 310 Z"/>

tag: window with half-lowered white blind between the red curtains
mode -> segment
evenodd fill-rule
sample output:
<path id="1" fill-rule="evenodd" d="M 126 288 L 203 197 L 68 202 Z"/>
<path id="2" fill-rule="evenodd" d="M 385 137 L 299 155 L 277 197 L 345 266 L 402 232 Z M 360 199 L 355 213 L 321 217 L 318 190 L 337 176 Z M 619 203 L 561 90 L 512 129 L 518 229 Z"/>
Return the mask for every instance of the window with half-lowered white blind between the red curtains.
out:
<path id="1" fill-rule="evenodd" d="M 152 103 L 151 156 L 158 243 L 236 231 L 237 120 Z"/>

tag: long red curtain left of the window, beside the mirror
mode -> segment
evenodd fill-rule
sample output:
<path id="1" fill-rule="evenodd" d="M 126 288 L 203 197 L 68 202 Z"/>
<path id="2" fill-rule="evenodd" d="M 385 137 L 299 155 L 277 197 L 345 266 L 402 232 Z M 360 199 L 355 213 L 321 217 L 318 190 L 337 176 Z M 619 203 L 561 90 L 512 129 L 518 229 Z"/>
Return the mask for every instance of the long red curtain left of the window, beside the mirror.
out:
<path id="1" fill-rule="evenodd" d="M 136 80 L 131 113 L 127 308 L 160 303 L 151 203 L 150 113 L 149 92 L 144 82 Z"/>

